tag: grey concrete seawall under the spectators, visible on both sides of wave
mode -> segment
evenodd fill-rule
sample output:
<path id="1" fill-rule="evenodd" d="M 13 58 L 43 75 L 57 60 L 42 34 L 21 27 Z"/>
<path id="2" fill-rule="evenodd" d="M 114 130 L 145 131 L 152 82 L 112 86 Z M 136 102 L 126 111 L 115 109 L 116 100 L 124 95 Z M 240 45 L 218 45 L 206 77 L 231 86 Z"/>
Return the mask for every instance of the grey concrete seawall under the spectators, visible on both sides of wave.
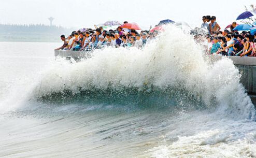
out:
<path id="1" fill-rule="evenodd" d="M 74 58 L 79 60 L 82 58 L 90 58 L 90 52 L 84 51 L 62 51 L 55 50 L 55 57 Z M 89 56 L 88 56 L 89 55 Z M 218 61 L 222 58 L 229 58 L 234 65 L 239 69 L 241 74 L 241 83 L 251 97 L 253 104 L 256 106 L 256 58 L 255 57 L 239 57 L 239 56 L 207 56 L 210 61 Z"/>

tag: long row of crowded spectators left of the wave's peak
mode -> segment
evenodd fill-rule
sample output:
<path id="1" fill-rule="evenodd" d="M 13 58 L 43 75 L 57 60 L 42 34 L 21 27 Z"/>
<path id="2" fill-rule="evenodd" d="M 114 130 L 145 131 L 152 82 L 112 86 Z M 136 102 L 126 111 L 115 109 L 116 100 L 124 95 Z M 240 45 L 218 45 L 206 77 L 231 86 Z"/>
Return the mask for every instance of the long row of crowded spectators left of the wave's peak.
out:
<path id="1" fill-rule="evenodd" d="M 128 22 L 125 21 L 125 23 Z M 121 27 L 117 27 L 117 30 L 106 31 L 100 26 L 96 30 L 88 28 L 87 30 L 73 31 L 67 38 L 65 35 L 61 35 L 61 40 L 64 41 L 64 44 L 55 50 L 92 51 L 108 46 L 142 48 L 156 35 L 156 32 L 141 31 L 138 33 L 136 30 L 123 29 Z"/>

